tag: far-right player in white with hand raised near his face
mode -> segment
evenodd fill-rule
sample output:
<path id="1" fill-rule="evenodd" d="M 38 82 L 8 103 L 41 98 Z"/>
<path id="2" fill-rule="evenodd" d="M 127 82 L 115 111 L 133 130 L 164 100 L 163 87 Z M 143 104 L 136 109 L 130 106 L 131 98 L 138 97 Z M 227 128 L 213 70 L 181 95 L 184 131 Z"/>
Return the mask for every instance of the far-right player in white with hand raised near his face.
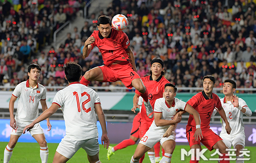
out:
<path id="1" fill-rule="evenodd" d="M 222 131 L 220 137 L 228 148 L 233 145 L 236 149 L 236 163 L 244 163 L 244 156 L 239 156 L 242 149 L 245 147 L 245 134 L 244 134 L 244 123 L 243 114 L 246 116 L 252 116 L 252 111 L 247 106 L 246 102 L 242 98 L 234 95 L 236 90 L 236 82 L 227 79 L 224 81 L 223 94 L 224 98 L 220 99 L 223 109 L 226 113 L 226 118 L 232 128 L 230 134 L 225 132 L 226 123 L 222 120 Z M 212 116 L 214 116 L 218 110 L 214 109 Z M 240 160 L 239 160 L 240 159 Z"/>

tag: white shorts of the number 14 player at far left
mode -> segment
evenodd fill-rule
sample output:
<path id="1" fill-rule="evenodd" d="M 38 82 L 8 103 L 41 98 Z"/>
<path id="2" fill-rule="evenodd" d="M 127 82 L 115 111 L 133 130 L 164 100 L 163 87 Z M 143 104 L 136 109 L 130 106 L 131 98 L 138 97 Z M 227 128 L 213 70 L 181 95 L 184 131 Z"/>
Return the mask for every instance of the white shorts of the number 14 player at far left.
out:
<path id="1" fill-rule="evenodd" d="M 23 129 L 29 124 L 22 124 L 16 121 L 16 130 L 12 129 L 11 135 L 21 136 Z M 36 134 L 44 134 L 44 131 L 39 123 L 35 124 L 35 126 L 29 130 L 31 136 Z"/>

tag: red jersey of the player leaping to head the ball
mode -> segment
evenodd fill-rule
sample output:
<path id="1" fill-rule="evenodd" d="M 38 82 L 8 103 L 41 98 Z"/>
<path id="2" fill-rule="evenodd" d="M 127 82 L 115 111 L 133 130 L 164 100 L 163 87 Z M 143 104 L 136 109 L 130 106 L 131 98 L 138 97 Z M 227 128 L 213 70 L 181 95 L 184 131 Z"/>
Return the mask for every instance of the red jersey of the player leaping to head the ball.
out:
<path id="1" fill-rule="evenodd" d="M 129 60 L 125 49 L 130 45 L 130 41 L 123 31 L 111 29 L 106 38 L 100 34 L 100 31 L 93 31 L 91 37 L 95 38 L 94 43 L 91 44 L 92 48 L 96 46 L 100 49 L 104 65 L 108 66 L 114 61 Z"/>

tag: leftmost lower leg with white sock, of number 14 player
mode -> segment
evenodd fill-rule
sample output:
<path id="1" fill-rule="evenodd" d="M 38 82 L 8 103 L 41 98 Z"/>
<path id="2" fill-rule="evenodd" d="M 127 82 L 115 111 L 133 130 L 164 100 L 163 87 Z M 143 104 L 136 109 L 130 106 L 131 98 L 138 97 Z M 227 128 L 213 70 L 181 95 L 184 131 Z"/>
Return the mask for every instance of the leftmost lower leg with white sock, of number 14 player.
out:
<path id="1" fill-rule="evenodd" d="M 4 149 L 4 163 L 8 163 L 12 157 L 12 150 L 15 147 L 20 136 L 11 135 L 8 145 Z"/>

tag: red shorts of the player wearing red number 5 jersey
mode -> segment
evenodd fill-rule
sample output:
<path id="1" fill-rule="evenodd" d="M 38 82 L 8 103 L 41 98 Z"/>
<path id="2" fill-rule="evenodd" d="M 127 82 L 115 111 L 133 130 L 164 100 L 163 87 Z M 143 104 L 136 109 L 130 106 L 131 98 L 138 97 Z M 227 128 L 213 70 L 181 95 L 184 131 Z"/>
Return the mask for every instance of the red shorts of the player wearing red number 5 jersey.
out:
<path id="1" fill-rule="evenodd" d="M 218 136 L 217 134 L 215 134 L 210 128 L 208 129 L 202 129 L 202 135 L 203 135 L 203 139 L 198 139 L 197 141 L 195 140 L 194 134 L 196 132 L 196 128 L 192 127 L 192 126 L 187 126 L 186 127 L 186 137 L 188 139 L 188 143 L 189 146 L 191 148 L 192 145 L 195 144 L 199 144 L 200 142 L 209 149 L 209 151 L 213 150 L 213 146 L 220 140 L 222 140 L 222 138 L 220 138 L 220 136 Z"/>

